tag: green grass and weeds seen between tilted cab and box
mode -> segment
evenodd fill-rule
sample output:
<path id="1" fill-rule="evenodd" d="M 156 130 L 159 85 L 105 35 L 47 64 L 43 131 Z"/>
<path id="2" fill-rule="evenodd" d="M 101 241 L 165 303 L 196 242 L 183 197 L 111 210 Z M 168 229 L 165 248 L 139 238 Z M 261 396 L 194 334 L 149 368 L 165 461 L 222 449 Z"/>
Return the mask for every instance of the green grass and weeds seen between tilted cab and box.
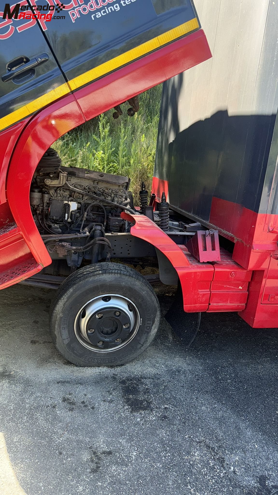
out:
<path id="1" fill-rule="evenodd" d="M 142 93 L 134 117 L 128 117 L 125 103 L 119 119 L 110 110 L 62 136 L 53 148 L 63 165 L 130 177 L 138 204 L 141 182 L 151 190 L 161 91 L 159 85 Z"/>

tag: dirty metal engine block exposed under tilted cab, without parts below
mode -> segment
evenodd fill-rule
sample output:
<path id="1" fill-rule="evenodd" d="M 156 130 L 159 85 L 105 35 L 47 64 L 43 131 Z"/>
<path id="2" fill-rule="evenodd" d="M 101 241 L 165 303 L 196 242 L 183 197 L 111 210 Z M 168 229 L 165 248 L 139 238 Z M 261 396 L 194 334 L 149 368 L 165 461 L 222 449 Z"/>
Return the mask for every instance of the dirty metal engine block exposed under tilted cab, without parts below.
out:
<path id="1" fill-rule="evenodd" d="M 123 206 L 133 207 L 129 184 L 128 177 L 64 167 L 57 152 L 49 148 L 31 185 L 35 223 L 42 234 L 78 233 L 94 223 L 101 224 L 103 232 L 125 232 L 120 213 Z"/>

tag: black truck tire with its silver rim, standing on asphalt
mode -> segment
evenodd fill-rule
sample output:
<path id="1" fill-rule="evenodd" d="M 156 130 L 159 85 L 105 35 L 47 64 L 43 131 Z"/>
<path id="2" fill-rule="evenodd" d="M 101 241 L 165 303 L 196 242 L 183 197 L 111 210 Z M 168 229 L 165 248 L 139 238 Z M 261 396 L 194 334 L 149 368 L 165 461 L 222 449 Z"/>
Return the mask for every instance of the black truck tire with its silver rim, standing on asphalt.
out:
<path id="1" fill-rule="evenodd" d="M 118 263 L 81 268 L 59 287 L 50 307 L 50 333 L 77 366 L 117 366 L 152 342 L 160 307 L 150 284 Z"/>

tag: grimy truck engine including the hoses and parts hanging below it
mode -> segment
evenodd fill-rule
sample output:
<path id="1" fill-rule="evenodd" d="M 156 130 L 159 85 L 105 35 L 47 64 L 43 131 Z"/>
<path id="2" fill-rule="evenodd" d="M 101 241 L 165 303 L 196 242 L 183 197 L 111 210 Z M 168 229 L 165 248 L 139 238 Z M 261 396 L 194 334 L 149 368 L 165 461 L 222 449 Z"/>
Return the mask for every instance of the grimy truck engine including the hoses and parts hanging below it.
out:
<path id="1" fill-rule="evenodd" d="M 129 232 L 120 215 L 124 210 L 135 213 L 129 185 L 128 177 L 64 167 L 49 148 L 35 171 L 30 205 L 50 256 L 66 257 L 74 267 L 84 255 L 98 261 L 101 250 L 109 257 L 105 233 Z"/>

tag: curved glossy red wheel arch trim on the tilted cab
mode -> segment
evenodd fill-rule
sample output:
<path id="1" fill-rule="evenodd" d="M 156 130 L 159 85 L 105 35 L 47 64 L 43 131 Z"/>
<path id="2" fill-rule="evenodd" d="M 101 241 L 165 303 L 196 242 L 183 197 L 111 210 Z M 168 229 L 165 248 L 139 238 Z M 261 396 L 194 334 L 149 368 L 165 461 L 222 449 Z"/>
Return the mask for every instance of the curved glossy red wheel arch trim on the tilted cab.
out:
<path id="1" fill-rule="evenodd" d="M 49 265 L 51 258 L 31 213 L 29 192 L 32 177 L 46 149 L 83 122 L 85 118 L 74 96 L 53 103 L 41 110 L 24 129 L 10 162 L 8 204 L 25 243 L 41 268 Z"/>

